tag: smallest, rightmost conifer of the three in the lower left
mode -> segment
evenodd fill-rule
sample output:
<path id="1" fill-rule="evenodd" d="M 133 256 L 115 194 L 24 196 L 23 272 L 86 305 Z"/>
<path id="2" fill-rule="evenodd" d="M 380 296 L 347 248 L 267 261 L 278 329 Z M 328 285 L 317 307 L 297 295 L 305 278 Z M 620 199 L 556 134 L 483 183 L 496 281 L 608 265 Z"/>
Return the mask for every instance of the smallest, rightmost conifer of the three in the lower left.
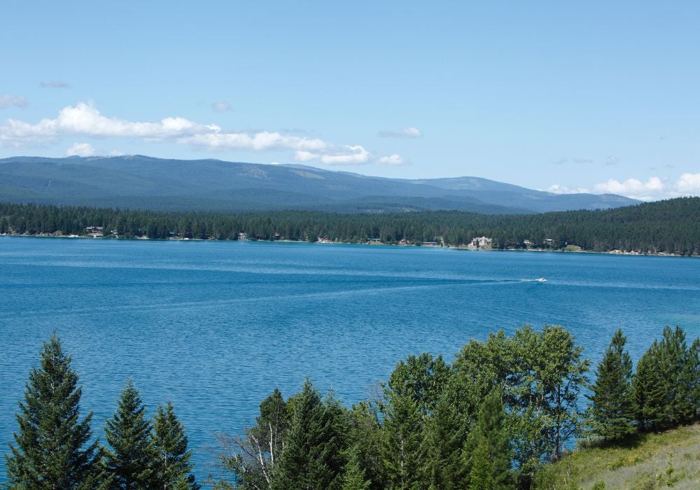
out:
<path id="1" fill-rule="evenodd" d="M 194 465 L 190 463 L 192 451 L 187 449 L 185 428 L 169 401 L 165 409 L 158 405 L 151 440 L 155 450 L 153 488 L 174 489 L 178 482 L 186 481 L 190 489 L 199 489 L 200 485 L 195 483 L 195 475 L 191 473 Z"/>

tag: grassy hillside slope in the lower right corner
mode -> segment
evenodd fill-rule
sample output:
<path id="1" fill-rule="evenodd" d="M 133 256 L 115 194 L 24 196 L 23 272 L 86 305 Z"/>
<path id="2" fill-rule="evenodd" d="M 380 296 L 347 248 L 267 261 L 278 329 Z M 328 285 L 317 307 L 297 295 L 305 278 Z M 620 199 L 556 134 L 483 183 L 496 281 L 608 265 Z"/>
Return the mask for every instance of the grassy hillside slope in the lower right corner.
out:
<path id="1" fill-rule="evenodd" d="M 700 489 L 700 424 L 578 449 L 547 465 L 538 489 Z"/>

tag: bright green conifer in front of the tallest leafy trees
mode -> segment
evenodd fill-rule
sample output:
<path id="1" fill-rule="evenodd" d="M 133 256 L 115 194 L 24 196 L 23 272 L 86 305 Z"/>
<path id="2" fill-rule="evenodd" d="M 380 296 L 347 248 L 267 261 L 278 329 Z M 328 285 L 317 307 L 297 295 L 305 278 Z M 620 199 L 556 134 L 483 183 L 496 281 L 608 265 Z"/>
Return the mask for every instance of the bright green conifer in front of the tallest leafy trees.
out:
<path id="1" fill-rule="evenodd" d="M 465 451 L 469 468 L 469 488 L 500 490 L 512 488 L 510 435 L 505 428 L 505 408 L 500 393 L 494 388 L 479 410 L 475 428 L 469 435 Z"/>

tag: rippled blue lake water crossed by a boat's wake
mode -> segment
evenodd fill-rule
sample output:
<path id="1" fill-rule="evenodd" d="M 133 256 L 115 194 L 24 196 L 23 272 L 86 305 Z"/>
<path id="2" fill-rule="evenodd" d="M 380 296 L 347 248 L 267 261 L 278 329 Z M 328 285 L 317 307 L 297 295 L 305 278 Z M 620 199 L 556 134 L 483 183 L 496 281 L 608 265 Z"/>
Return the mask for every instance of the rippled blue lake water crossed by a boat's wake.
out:
<path id="1" fill-rule="evenodd" d="M 545 276 L 547 283 L 533 281 Z M 99 433 L 127 377 L 172 400 L 214 471 L 214 433 L 250 425 L 304 377 L 346 404 L 411 353 L 566 326 L 597 360 L 623 328 L 636 360 L 664 325 L 700 335 L 700 260 L 227 241 L 0 237 L 0 447 L 41 342 L 57 330 Z M 4 458 L 0 459 L 0 479 Z"/>

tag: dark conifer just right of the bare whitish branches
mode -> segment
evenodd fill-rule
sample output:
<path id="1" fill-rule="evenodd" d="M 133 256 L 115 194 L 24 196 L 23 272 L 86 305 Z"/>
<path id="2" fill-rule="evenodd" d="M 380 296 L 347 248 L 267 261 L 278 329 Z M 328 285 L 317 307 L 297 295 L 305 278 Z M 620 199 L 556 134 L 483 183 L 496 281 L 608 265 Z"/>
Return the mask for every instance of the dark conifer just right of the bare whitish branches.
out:
<path id="1" fill-rule="evenodd" d="M 307 379 L 291 401 L 293 415 L 285 447 L 276 468 L 273 488 L 328 489 L 339 486 L 342 435 L 337 432 L 335 407 L 326 406 Z"/>

